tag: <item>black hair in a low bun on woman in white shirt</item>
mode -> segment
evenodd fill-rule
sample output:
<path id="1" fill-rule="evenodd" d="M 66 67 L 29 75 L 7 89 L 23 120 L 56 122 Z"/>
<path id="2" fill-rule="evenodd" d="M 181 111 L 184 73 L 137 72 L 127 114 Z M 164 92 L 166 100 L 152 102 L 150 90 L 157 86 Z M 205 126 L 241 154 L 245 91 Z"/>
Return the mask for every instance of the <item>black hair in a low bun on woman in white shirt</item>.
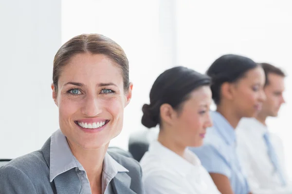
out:
<path id="1" fill-rule="evenodd" d="M 160 107 L 167 103 L 175 110 L 189 98 L 189 94 L 196 88 L 210 85 L 211 79 L 207 75 L 192 69 L 177 66 L 167 69 L 154 81 L 150 90 L 150 104 L 142 107 L 142 124 L 147 128 L 155 127 L 160 122 Z"/>

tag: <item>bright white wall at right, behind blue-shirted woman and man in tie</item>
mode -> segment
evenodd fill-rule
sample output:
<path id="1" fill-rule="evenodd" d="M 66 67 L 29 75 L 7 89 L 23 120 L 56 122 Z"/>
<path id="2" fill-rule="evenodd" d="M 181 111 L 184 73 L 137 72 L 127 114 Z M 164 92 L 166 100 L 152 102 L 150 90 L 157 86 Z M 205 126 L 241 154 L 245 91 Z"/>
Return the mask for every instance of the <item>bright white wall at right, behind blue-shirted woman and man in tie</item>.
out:
<path id="1" fill-rule="evenodd" d="M 268 125 L 283 139 L 289 172 L 292 172 L 291 7 L 290 0 L 177 1 L 179 64 L 204 73 L 219 56 L 235 53 L 274 64 L 287 72 L 287 103 L 277 118 L 268 120 Z"/>

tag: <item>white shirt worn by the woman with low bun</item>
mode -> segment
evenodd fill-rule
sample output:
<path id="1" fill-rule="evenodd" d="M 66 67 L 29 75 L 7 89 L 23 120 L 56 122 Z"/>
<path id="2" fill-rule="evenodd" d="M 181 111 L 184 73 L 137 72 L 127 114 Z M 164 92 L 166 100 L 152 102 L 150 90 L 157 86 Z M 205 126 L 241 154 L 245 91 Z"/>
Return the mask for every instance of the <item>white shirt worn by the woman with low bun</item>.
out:
<path id="1" fill-rule="evenodd" d="M 184 158 L 152 142 L 140 162 L 145 194 L 220 194 L 199 158 L 188 149 Z"/>

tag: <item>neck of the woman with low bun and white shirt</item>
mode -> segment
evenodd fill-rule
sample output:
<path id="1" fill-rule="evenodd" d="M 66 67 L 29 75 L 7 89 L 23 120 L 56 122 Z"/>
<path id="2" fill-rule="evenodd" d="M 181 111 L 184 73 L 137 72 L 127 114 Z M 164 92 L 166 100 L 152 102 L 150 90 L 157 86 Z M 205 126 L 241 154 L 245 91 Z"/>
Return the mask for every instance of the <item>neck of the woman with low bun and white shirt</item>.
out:
<path id="1" fill-rule="evenodd" d="M 169 135 L 167 135 L 163 130 L 160 130 L 158 135 L 158 142 L 161 143 L 164 147 L 170 149 L 177 155 L 184 158 L 184 151 L 186 146 L 183 146 L 176 142 L 173 138 L 171 138 Z"/>

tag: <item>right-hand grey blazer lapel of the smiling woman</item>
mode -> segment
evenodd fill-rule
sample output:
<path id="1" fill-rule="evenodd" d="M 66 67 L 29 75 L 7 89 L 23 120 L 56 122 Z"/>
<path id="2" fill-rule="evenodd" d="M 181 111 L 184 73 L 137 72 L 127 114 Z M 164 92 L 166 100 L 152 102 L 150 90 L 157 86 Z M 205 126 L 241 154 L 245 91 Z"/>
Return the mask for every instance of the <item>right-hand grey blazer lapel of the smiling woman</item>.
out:
<path id="1" fill-rule="evenodd" d="M 125 172 L 118 173 L 110 183 L 115 194 L 136 194 L 130 189 L 131 178 Z"/>

